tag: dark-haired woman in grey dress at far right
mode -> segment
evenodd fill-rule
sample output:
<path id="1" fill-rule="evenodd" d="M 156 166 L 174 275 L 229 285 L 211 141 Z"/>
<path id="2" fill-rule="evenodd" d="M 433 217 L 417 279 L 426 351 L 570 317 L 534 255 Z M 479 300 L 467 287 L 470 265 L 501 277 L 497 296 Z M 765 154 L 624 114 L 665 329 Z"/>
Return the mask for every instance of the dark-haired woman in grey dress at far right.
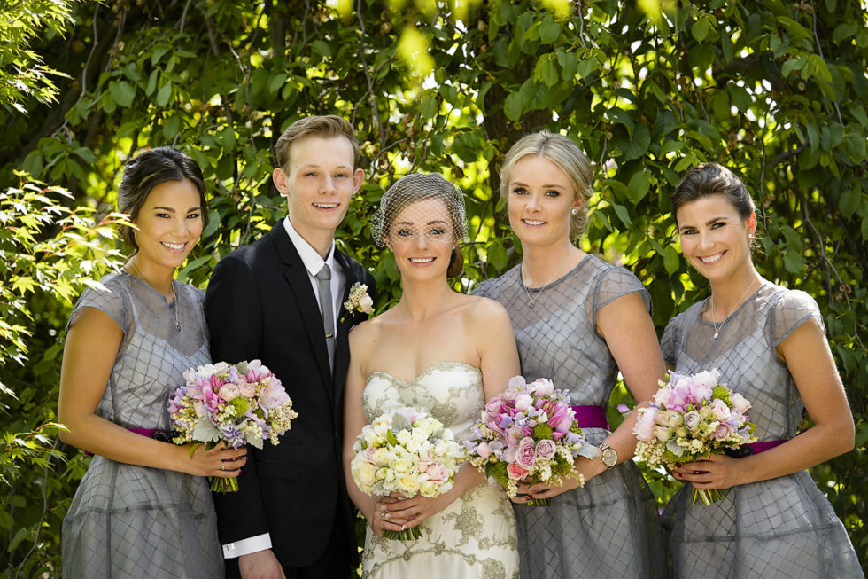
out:
<path id="1" fill-rule="evenodd" d="M 664 357 L 678 372 L 717 368 L 753 403 L 760 440 L 744 458 L 712 456 L 675 471 L 688 483 L 664 513 L 675 575 L 863 577 L 841 520 L 804 470 L 854 444 L 817 303 L 754 269 L 754 202 L 728 169 L 688 171 L 672 209 L 681 252 L 708 278 L 711 296 L 666 326 Z M 814 426 L 796 436 L 802 409 Z M 691 485 L 723 497 L 690 505 Z"/>

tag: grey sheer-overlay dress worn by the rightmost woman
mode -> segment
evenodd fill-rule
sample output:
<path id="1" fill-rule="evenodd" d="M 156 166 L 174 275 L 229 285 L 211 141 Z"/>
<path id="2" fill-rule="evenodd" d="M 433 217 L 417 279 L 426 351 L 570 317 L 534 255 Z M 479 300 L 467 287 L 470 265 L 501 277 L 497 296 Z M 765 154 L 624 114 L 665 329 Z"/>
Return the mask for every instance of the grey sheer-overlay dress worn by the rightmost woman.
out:
<path id="1" fill-rule="evenodd" d="M 822 325 L 817 303 L 763 281 L 717 325 L 714 340 L 714 327 L 700 317 L 707 302 L 666 326 L 664 358 L 678 372 L 717 368 L 720 381 L 753 404 L 748 415 L 761 442 L 792 438 L 804 404 L 774 348 L 810 318 Z M 725 489 L 710 506 L 691 506 L 690 496 L 688 484 L 663 514 L 678 577 L 864 576 L 841 520 L 806 471 Z"/>

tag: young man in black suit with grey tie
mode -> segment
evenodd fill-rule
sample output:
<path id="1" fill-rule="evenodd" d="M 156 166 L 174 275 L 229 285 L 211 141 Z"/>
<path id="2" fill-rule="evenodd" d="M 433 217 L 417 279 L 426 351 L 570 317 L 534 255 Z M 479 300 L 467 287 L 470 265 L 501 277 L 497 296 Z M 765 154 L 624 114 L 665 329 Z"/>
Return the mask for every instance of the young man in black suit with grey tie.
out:
<path id="1" fill-rule="evenodd" d="M 346 577 L 357 559 L 341 467 L 347 333 L 367 317 L 343 303 L 374 278 L 335 248 L 364 180 L 359 142 L 344 119 L 294 122 L 275 145 L 288 215 L 227 255 L 205 293 L 213 360 L 259 358 L 283 382 L 298 418 L 280 444 L 249 449 L 240 490 L 214 494 L 227 576 Z"/>

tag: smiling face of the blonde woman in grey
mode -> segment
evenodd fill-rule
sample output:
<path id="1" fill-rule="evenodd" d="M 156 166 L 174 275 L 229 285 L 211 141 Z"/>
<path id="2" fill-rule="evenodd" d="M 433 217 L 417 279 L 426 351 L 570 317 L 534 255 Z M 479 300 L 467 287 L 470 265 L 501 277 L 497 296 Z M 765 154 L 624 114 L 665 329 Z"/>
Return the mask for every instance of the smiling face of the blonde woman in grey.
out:
<path id="1" fill-rule="evenodd" d="M 522 245 L 552 246 L 570 239 L 570 211 L 582 207 L 570 177 L 551 160 L 525 155 L 508 178 L 509 224 Z"/>

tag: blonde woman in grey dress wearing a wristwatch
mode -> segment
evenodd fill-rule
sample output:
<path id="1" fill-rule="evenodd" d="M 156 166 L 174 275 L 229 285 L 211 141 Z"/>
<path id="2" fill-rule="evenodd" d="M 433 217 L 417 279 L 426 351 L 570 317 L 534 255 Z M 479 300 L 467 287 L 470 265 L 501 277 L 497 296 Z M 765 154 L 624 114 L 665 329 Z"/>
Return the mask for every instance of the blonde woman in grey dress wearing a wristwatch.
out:
<path id="1" fill-rule="evenodd" d="M 509 224 L 523 262 L 477 288 L 512 321 L 526 379 L 570 391 L 579 424 L 600 457 L 577 458 L 584 475 L 562 487 L 523 488 L 514 502 L 521 574 L 526 578 L 663 575 L 655 498 L 632 463 L 635 413 L 614 432 L 606 407 L 617 373 L 640 404 L 657 390 L 663 356 L 644 286 L 574 246 L 587 225 L 591 165 L 569 138 L 540 131 L 519 140 L 500 170 Z M 548 498 L 548 506 L 523 505 Z"/>

